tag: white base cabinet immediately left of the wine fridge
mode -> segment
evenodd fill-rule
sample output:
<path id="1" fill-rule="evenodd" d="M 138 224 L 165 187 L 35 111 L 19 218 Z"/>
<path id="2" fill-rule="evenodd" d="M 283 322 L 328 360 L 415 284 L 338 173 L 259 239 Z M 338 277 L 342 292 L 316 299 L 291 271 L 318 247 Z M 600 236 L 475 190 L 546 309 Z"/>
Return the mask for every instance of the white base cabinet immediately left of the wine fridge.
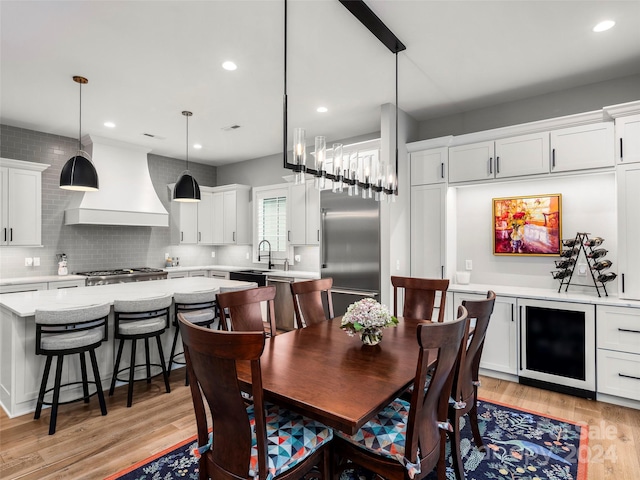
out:
<path id="1" fill-rule="evenodd" d="M 486 295 L 475 293 L 453 294 L 453 311 L 457 311 L 463 300 L 484 300 Z M 516 299 L 496 297 L 493 313 L 484 339 L 480 368 L 494 372 L 518 374 L 518 322 Z"/>

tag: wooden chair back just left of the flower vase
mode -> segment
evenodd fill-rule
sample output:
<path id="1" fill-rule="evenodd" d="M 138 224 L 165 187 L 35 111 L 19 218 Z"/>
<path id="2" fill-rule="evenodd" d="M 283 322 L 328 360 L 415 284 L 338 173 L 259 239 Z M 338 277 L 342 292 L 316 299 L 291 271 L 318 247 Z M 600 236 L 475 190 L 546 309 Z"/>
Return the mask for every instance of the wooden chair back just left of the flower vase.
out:
<path id="1" fill-rule="evenodd" d="M 334 317 L 332 286 L 333 278 L 291 284 L 297 328 L 307 327 Z"/>

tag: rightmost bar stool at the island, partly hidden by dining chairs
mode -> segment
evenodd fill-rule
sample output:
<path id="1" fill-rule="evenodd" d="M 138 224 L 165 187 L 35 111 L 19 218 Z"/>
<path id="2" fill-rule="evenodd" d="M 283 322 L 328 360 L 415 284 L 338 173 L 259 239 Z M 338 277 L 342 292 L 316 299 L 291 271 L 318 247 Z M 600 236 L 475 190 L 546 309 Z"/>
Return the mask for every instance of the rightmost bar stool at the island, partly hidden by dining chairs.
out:
<path id="1" fill-rule="evenodd" d="M 204 290 L 200 292 L 185 292 L 173 294 L 173 343 L 171 345 L 171 355 L 169 355 L 169 375 L 173 364 L 185 365 L 184 352 L 176 352 L 180 328 L 178 327 L 178 313 L 182 313 L 183 318 L 188 322 L 200 327 L 211 328 L 216 318 L 216 290 Z M 182 360 L 176 357 L 182 355 Z M 185 375 L 185 385 L 189 385 L 189 376 Z"/>

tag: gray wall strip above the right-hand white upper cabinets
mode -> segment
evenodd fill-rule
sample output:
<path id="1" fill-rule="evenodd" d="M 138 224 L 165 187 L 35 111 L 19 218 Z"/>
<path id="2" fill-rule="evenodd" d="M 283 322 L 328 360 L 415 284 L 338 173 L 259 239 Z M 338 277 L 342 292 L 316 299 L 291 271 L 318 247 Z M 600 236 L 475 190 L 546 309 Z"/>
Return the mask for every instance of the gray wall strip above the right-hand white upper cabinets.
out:
<path id="1" fill-rule="evenodd" d="M 640 99 L 640 75 L 593 83 L 420 123 L 420 140 L 462 135 L 576 113 Z"/>

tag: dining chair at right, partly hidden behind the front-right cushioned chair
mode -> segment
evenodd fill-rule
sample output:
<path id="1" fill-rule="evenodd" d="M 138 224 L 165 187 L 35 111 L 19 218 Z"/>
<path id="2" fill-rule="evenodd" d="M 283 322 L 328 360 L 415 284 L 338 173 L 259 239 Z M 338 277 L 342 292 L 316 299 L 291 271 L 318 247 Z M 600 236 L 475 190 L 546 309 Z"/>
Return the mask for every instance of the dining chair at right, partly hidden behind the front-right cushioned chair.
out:
<path id="1" fill-rule="evenodd" d="M 452 395 L 449 401 L 449 422 L 453 430 L 448 432 L 451 439 L 451 458 L 458 480 L 463 480 L 464 468 L 462 465 L 462 452 L 460 451 L 460 419 L 469 414 L 469 423 L 476 446 L 483 448 L 480 429 L 478 428 L 478 387 L 480 386 L 479 369 L 480 358 L 484 339 L 489 326 L 489 320 L 493 313 L 496 294 L 489 290 L 484 300 L 464 300 L 462 306 L 467 309 L 469 320 L 475 319 L 473 332 L 470 333 L 470 341 L 466 352 L 461 355 L 456 369 L 452 386 Z"/>

